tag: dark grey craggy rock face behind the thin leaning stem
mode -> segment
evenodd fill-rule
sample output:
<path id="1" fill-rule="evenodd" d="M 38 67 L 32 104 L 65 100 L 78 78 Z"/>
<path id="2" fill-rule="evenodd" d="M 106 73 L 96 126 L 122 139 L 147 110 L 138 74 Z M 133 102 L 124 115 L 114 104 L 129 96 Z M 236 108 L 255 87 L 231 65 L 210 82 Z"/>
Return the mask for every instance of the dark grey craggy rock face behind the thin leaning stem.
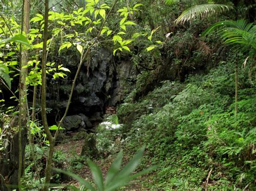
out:
<path id="1" fill-rule="evenodd" d="M 48 86 L 48 107 L 52 109 L 48 118 L 56 118 L 56 121 L 64 114 L 79 63 L 79 56 L 68 59 L 64 64 L 71 70 L 68 79 L 50 82 Z M 112 52 L 104 48 L 92 50 L 90 59 L 84 62 L 78 75 L 63 126 L 68 130 L 90 129 L 91 123 L 102 119 L 106 105 L 114 106 L 122 101 L 125 91 L 131 88 L 129 79 L 136 76 L 135 71 L 131 62 L 115 62 Z M 52 120 L 52 123 L 56 122 Z"/>

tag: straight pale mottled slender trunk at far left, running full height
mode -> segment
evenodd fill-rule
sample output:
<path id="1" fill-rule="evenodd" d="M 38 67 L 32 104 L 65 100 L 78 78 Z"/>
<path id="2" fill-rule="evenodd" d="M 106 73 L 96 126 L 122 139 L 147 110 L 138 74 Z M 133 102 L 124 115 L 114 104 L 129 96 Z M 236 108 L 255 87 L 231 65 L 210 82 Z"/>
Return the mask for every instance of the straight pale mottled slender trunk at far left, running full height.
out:
<path id="1" fill-rule="evenodd" d="M 22 22 L 22 31 L 25 34 L 29 33 L 29 0 L 23 1 L 23 22 Z M 19 145 L 19 162 L 18 162 L 18 186 L 19 190 L 21 190 L 21 176 L 22 176 L 22 166 L 23 166 L 23 155 L 24 155 L 24 148 L 22 148 L 22 142 L 24 138 L 22 136 L 22 131 L 25 130 L 26 126 L 26 104 L 27 104 L 27 97 L 26 97 L 26 76 L 28 75 L 28 68 L 24 67 L 28 64 L 28 51 L 26 49 L 21 54 L 21 63 L 20 63 L 20 70 L 19 73 L 19 132 L 18 132 L 18 145 Z"/>

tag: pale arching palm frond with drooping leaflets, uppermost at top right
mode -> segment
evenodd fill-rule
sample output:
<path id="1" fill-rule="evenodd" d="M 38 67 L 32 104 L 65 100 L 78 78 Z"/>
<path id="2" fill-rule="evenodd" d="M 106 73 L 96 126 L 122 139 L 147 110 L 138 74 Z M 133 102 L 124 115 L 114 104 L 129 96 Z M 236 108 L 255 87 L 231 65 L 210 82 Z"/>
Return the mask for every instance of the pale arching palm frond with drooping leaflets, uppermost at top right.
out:
<path id="1" fill-rule="evenodd" d="M 218 16 L 220 13 L 230 11 L 233 6 L 224 4 L 200 4 L 194 5 L 191 8 L 185 10 L 181 15 L 175 20 L 178 23 L 185 23 L 188 20 L 193 20 L 196 18 L 205 18 L 210 16 Z"/>

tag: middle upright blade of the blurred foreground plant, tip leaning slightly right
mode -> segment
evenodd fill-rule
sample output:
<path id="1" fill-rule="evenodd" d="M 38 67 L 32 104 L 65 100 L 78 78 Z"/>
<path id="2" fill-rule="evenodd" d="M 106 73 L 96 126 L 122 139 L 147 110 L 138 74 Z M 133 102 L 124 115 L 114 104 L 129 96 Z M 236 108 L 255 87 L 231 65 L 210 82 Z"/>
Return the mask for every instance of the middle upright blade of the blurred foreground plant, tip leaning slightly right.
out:
<path id="1" fill-rule="evenodd" d="M 106 181 L 105 181 L 106 187 L 114 179 L 114 176 L 116 176 L 117 173 L 119 172 L 119 169 L 122 164 L 122 159 L 123 159 L 123 152 L 121 151 L 118 153 L 116 159 L 114 159 L 114 161 L 112 162 L 109 168 L 109 171 L 107 172 Z"/>

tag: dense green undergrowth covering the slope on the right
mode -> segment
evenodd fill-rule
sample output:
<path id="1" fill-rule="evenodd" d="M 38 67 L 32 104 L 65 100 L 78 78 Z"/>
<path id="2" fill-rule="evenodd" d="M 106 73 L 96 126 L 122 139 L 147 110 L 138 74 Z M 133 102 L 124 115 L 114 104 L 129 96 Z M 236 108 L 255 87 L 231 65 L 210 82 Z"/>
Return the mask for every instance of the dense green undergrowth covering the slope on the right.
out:
<path id="1" fill-rule="evenodd" d="M 234 114 L 234 59 L 185 83 L 164 81 L 138 102 L 119 106 L 127 152 L 146 145 L 144 166 L 162 164 L 140 182 L 151 189 L 255 189 L 256 94 L 239 69 Z M 136 90 L 135 90 L 136 91 Z"/>

